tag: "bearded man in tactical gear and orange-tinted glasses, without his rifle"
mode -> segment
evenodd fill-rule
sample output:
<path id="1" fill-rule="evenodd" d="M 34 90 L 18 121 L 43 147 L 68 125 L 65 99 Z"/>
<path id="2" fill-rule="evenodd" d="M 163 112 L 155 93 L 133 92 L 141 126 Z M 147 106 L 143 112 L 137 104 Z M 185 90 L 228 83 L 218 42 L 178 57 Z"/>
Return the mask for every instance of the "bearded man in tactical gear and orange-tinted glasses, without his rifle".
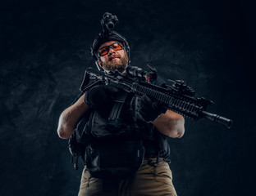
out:
<path id="1" fill-rule="evenodd" d="M 116 16 L 107 14 L 102 25 L 109 21 L 115 25 Z M 115 70 L 126 73 L 130 65 L 129 44 L 112 29 L 103 28 L 95 38 L 92 55 L 98 69 L 108 74 Z M 161 79 L 155 84 L 165 85 Z M 117 100 L 124 97 L 121 114 L 109 122 Z M 148 96 L 127 97 L 122 89 L 99 84 L 85 91 L 60 116 L 58 136 L 68 139 L 80 127 L 85 140 L 89 138 L 79 196 L 176 195 L 167 163 L 167 137 L 181 138 L 185 120 Z M 85 115 L 89 118 L 80 123 Z"/>

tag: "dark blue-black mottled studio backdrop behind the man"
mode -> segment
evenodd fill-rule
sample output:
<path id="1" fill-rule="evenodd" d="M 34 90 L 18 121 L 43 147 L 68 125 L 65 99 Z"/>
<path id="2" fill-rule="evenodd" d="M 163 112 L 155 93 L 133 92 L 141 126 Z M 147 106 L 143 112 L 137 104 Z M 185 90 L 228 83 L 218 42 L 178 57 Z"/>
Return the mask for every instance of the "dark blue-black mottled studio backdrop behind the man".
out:
<path id="1" fill-rule="evenodd" d="M 58 117 L 94 66 L 89 48 L 105 11 L 130 43 L 131 65 L 151 63 L 162 78 L 183 79 L 231 129 L 186 119 L 170 139 L 180 196 L 252 195 L 255 176 L 255 7 L 239 0 L 1 1 L 1 192 L 76 195 L 80 170 L 70 162 Z"/>

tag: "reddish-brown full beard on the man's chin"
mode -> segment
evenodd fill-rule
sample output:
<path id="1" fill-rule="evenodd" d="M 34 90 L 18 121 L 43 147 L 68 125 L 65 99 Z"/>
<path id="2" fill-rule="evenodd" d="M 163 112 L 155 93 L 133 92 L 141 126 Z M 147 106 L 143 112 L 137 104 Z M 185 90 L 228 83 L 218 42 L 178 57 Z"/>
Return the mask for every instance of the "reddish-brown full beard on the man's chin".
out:
<path id="1" fill-rule="evenodd" d="M 128 56 L 121 56 L 119 60 L 110 60 L 107 62 L 102 62 L 103 69 L 106 71 L 112 71 L 114 72 L 115 70 L 119 72 L 123 72 L 126 70 L 126 67 L 128 65 Z"/>

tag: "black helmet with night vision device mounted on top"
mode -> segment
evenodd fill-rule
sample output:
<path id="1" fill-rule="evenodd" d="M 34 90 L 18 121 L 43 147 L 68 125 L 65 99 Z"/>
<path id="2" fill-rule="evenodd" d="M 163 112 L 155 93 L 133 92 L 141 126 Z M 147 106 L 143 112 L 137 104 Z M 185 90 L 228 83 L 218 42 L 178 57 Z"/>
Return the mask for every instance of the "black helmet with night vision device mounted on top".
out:
<path id="1" fill-rule="evenodd" d="M 112 29 L 118 24 L 119 20 L 117 16 L 112 15 L 111 13 L 105 12 L 103 14 L 103 19 L 100 20 L 100 24 L 102 25 L 102 32 L 98 34 L 98 36 L 94 39 L 93 47 L 91 47 L 91 54 L 94 56 L 95 64 L 97 65 L 98 70 L 101 70 L 101 67 L 98 65 L 98 49 L 104 42 L 109 41 L 117 41 L 121 42 L 124 50 L 126 51 L 126 55 L 128 56 L 128 65 L 130 64 L 130 47 L 126 38 L 122 37 L 121 34 L 113 31 Z"/>

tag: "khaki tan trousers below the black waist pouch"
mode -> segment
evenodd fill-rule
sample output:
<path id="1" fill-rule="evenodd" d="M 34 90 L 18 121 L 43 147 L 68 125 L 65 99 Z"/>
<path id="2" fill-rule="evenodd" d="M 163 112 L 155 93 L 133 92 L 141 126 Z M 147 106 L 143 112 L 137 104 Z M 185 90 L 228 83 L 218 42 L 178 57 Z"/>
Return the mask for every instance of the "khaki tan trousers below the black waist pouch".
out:
<path id="1" fill-rule="evenodd" d="M 163 158 L 144 158 L 135 175 L 121 181 L 91 177 L 84 169 L 78 196 L 176 196 L 171 170 Z"/>

